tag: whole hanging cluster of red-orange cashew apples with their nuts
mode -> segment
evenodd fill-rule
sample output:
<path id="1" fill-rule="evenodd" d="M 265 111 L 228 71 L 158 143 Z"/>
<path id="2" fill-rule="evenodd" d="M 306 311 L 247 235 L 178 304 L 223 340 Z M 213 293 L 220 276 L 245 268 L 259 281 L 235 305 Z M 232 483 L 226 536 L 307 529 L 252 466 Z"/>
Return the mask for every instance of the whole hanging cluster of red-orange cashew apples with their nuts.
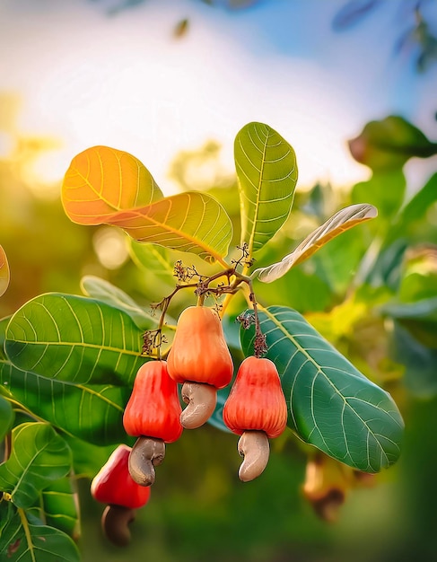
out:
<path id="1" fill-rule="evenodd" d="M 148 361 L 140 367 L 125 408 L 127 435 L 137 437 L 127 461 L 135 485 L 153 484 L 155 467 L 164 459 L 165 443 L 179 439 L 184 428 L 205 424 L 214 413 L 217 391 L 232 381 L 232 375 L 232 356 L 219 315 L 204 306 L 185 309 L 167 361 Z M 183 410 L 178 384 L 187 404 Z M 275 364 L 267 358 L 247 357 L 223 407 L 224 424 L 240 435 L 241 481 L 255 479 L 265 470 L 269 439 L 283 433 L 286 421 L 287 408 Z"/>

